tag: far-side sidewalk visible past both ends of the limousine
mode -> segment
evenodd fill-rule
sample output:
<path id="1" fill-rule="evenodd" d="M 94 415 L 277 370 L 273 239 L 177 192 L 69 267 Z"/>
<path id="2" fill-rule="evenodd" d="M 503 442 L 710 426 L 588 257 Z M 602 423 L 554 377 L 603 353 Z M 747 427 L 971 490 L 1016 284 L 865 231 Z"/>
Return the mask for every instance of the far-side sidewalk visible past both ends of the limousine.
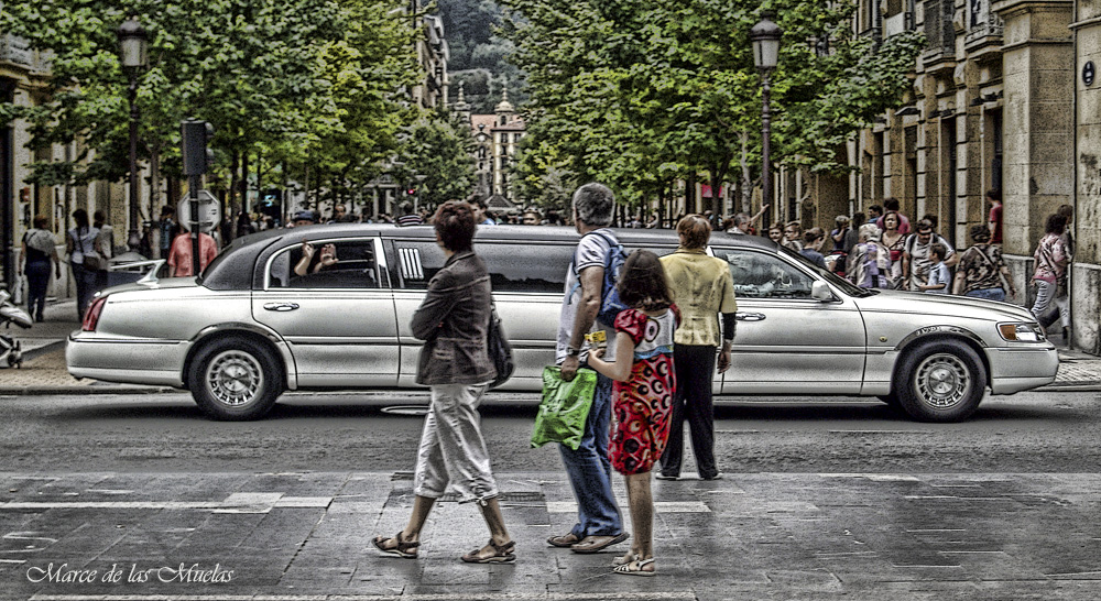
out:
<path id="1" fill-rule="evenodd" d="M 73 378 L 65 369 L 65 340 L 78 329 L 76 302 L 64 300 L 48 304 L 45 321 L 33 328 L 8 330 L 7 334 L 22 342 L 24 361 L 21 369 L 0 369 L 0 395 L 150 394 L 174 390 Z M 1038 391 L 1101 391 L 1101 357 L 1060 348 L 1059 360 L 1055 382 Z"/>

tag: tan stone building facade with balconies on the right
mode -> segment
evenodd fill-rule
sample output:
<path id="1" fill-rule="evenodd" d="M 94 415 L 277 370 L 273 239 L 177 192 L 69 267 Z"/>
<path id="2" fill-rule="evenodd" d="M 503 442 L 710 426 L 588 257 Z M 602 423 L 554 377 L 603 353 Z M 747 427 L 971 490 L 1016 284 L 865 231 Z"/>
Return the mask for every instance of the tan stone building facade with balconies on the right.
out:
<path id="1" fill-rule="evenodd" d="M 966 247 L 986 220 L 985 190 L 1001 190 L 1012 300 L 1031 306 L 1047 216 L 1073 206 L 1073 343 L 1101 352 L 1101 84 L 1087 84 L 1087 64 L 1101 65 L 1101 0 L 860 0 L 854 26 L 922 29 L 928 46 L 904 105 L 848 149 L 852 210 L 893 196 Z M 814 201 L 836 197 L 825 192 Z"/>

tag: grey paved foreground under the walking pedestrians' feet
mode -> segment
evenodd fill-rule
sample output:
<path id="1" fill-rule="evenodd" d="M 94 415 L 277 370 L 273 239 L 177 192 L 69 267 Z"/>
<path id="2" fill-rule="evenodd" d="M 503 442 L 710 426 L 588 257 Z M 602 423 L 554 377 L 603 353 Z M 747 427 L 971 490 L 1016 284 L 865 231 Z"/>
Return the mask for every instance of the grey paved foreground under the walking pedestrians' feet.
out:
<path id="1" fill-rule="evenodd" d="M 625 509 L 622 480 L 614 487 Z M 576 518 L 563 473 L 499 473 L 498 482 L 514 565 L 461 562 L 488 531 L 473 504 L 447 498 L 416 559 L 380 556 L 371 537 L 397 532 L 412 511 L 407 472 L 0 473 L 0 599 L 1101 597 L 1101 474 L 654 481 L 654 578 L 612 573 L 629 544 L 578 555 L 545 543 Z M 87 581 L 72 580 L 81 575 Z"/>

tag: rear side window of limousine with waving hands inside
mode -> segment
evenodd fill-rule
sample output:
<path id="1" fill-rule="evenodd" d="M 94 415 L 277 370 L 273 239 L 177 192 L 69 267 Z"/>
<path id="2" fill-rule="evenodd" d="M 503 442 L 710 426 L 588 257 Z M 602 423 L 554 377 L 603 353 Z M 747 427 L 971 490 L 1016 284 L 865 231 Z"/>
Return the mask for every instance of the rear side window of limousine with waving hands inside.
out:
<path id="1" fill-rule="evenodd" d="M 335 262 L 326 264 L 327 255 Z M 272 288 L 378 288 L 374 241 L 314 242 L 314 255 L 306 260 L 296 245 L 275 256 L 269 282 Z"/>

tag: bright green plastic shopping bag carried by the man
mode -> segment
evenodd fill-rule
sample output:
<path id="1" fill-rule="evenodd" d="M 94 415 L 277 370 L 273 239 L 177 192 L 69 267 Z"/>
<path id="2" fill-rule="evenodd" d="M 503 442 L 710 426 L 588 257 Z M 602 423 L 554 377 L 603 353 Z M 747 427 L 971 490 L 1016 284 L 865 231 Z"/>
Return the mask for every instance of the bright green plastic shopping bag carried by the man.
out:
<path id="1" fill-rule="evenodd" d="M 577 450 L 585 435 L 585 422 L 597 392 L 597 372 L 582 368 L 565 382 L 557 365 L 543 368 L 543 402 L 535 415 L 532 447 L 562 442 Z"/>

